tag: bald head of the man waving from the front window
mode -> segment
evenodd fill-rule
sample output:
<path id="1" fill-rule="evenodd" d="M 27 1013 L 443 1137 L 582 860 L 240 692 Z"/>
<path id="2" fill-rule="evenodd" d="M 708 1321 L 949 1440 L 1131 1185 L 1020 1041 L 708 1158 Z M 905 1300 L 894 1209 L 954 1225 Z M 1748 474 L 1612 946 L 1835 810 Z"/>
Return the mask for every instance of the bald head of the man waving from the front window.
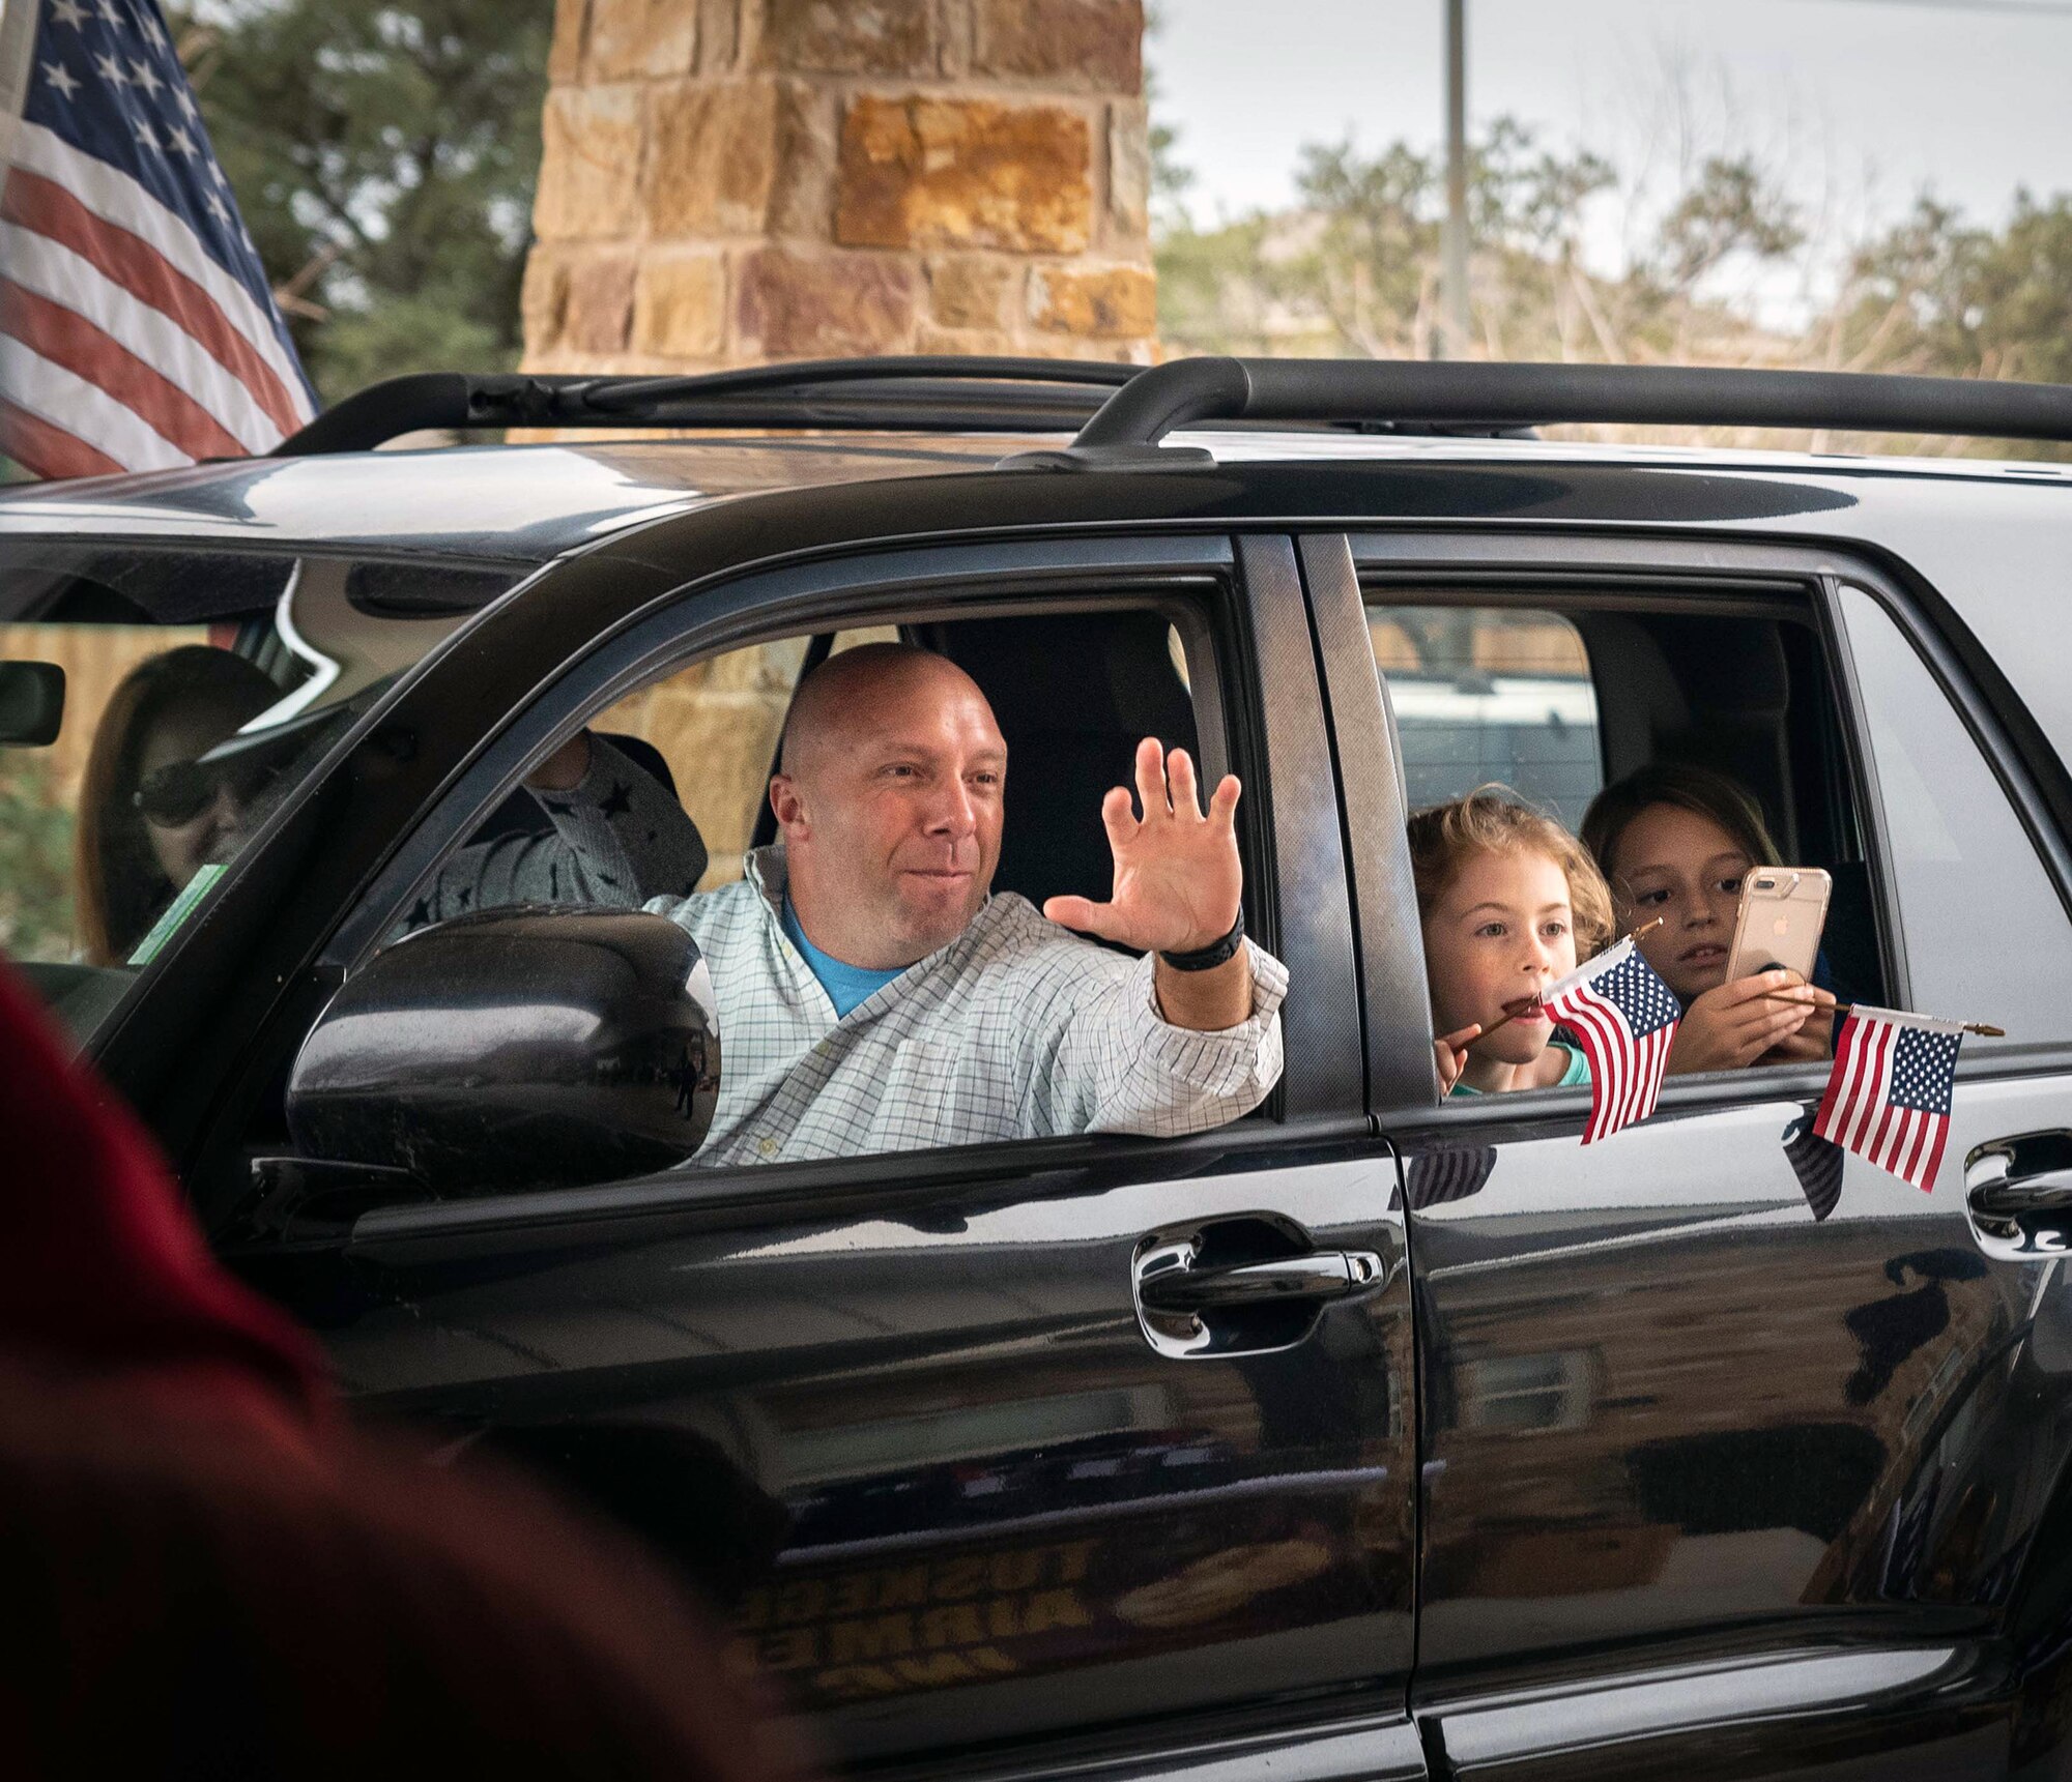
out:
<path id="1" fill-rule="evenodd" d="M 912 644 L 821 663 L 792 696 L 771 777 L 806 939 L 872 970 L 955 941 L 1001 860 L 1005 787 L 1001 727 L 955 663 Z"/>

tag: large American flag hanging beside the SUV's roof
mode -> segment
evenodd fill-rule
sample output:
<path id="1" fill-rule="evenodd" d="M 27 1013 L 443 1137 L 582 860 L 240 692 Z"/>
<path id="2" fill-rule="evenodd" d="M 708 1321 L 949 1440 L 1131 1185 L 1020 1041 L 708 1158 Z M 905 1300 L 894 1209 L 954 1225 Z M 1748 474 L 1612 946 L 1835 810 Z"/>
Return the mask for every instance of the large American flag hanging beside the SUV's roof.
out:
<path id="1" fill-rule="evenodd" d="M 0 0 L 0 178 L 10 458 L 157 470 L 315 414 L 157 0 Z"/>

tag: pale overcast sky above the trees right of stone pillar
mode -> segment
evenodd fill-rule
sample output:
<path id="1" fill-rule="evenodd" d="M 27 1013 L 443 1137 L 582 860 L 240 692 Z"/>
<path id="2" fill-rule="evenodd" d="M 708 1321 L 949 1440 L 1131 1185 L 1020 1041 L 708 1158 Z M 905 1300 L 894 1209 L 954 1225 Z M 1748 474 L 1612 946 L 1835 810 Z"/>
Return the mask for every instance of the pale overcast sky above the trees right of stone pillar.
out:
<path id="1" fill-rule="evenodd" d="M 1156 116 L 1198 220 L 1287 203 L 1305 141 L 1440 143 L 1442 0 L 1158 10 Z M 1467 33 L 1471 128 L 1510 112 L 1633 168 L 1666 164 L 1680 112 L 1701 147 L 1788 168 L 1823 238 L 1925 184 L 1977 220 L 2022 182 L 2072 191 L 2072 0 L 1467 0 Z"/>

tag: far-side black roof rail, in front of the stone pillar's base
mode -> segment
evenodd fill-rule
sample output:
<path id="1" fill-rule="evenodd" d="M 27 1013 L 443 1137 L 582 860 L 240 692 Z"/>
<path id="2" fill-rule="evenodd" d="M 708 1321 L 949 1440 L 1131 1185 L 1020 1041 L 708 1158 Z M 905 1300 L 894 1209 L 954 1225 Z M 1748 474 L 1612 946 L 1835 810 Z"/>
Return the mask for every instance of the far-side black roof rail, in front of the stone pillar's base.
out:
<path id="1" fill-rule="evenodd" d="M 808 358 L 696 377 L 472 377 L 423 371 L 358 390 L 269 456 L 369 452 L 419 429 L 823 427 L 1059 433 L 1135 365 L 1086 358 Z"/>

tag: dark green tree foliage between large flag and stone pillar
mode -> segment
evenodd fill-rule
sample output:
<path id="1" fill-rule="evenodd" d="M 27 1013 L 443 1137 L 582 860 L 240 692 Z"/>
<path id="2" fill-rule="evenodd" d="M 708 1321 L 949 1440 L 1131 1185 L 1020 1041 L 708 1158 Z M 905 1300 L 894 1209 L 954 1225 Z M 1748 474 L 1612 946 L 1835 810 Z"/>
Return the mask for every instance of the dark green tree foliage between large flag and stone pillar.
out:
<path id="1" fill-rule="evenodd" d="M 323 398 L 516 365 L 551 0 L 176 0 L 168 15 Z"/>

